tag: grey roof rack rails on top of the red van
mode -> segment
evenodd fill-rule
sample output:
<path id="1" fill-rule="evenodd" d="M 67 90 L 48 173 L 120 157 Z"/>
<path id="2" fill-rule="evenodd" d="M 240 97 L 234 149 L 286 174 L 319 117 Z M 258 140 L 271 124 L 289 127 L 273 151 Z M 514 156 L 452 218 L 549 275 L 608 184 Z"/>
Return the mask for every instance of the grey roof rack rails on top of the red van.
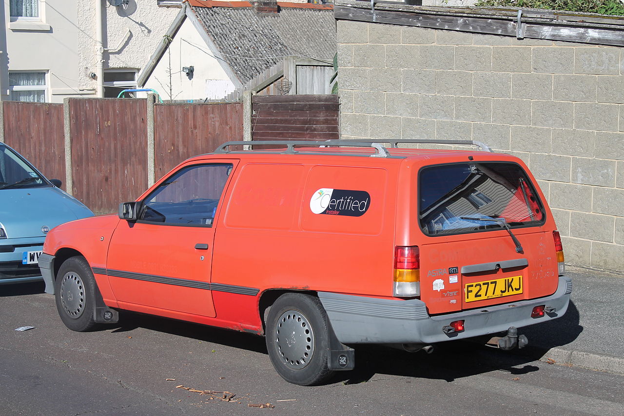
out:
<path id="1" fill-rule="evenodd" d="M 286 146 L 286 149 L 283 151 L 278 151 L 278 153 L 284 154 L 297 154 L 300 151 L 295 150 L 295 146 L 318 146 L 318 147 L 329 147 L 329 146 L 338 146 L 338 147 L 373 147 L 377 152 L 371 155 L 367 155 L 370 157 L 390 157 L 390 152 L 388 149 L 383 146 L 384 143 L 388 143 L 391 147 L 399 147 L 399 143 L 419 143 L 419 144 L 467 144 L 474 145 L 480 147 L 483 151 L 492 152 L 492 149 L 488 147 L 486 144 L 482 142 L 472 141 L 472 140 L 427 140 L 427 139 L 363 139 L 363 140 L 355 140 L 355 139 L 336 139 L 336 140 L 269 140 L 269 141 L 260 141 L 260 140 L 252 140 L 252 141 L 236 141 L 236 142 L 225 142 L 222 145 L 218 146 L 215 149 L 215 154 L 223 154 L 230 153 L 231 150 L 228 149 L 230 146 L 249 146 L 249 145 L 268 145 L 268 146 Z M 236 151 L 238 152 L 238 151 Z M 266 152 L 264 149 L 256 152 Z M 269 151 L 271 153 L 275 153 L 275 151 Z"/>

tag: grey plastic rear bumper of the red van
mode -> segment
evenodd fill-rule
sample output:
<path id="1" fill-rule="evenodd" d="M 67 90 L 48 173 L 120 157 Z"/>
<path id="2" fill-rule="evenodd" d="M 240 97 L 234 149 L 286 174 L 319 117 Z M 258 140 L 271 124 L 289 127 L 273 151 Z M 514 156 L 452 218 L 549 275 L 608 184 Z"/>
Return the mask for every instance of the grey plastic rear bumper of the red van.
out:
<path id="1" fill-rule="evenodd" d="M 571 292 L 572 279 L 560 276 L 557 291 L 547 297 L 436 316 L 427 314 L 425 303 L 419 299 L 376 299 L 331 292 L 318 292 L 318 297 L 343 344 L 433 344 L 496 334 L 509 327 L 526 327 L 562 317 Z M 552 312 L 532 318 L 531 312 L 537 305 L 545 305 Z M 461 319 L 464 331 L 446 334 L 442 330 Z"/>

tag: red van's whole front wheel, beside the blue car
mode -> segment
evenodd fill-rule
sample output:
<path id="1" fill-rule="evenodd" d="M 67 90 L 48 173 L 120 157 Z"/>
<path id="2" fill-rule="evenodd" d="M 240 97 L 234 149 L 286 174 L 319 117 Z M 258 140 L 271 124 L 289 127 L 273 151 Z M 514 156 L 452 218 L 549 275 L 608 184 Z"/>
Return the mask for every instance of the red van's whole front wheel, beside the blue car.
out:
<path id="1" fill-rule="evenodd" d="M 98 327 L 93 319 L 95 279 L 87 260 L 81 255 L 65 260 L 56 276 L 56 309 L 63 324 L 71 330 L 86 332 Z"/>

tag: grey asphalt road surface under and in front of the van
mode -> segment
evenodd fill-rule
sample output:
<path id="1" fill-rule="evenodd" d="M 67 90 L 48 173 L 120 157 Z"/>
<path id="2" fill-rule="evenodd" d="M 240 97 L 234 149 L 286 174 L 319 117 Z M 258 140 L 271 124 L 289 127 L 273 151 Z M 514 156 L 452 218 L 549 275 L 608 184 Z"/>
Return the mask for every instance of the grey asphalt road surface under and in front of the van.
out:
<path id="1" fill-rule="evenodd" d="M 42 290 L 0 286 L 3 416 L 624 414 L 622 375 L 549 365 L 531 350 L 360 349 L 356 372 L 300 387 L 276 374 L 260 337 L 138 314 L 72 332 Z M 35 328 L 15 331 L 24 325 Z M 266 403 L 275 407 L 249 407 Z"/>

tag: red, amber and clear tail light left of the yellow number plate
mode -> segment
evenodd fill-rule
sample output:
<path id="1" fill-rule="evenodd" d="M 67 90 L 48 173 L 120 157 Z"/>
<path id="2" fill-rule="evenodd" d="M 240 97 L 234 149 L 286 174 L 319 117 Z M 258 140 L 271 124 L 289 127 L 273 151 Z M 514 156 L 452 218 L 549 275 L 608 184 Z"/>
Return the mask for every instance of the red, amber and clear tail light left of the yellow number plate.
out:
<path id="1" fill-rule="evenodd" d="M 421 295 L 421 259 L 417 245 L 394 247 L 394 284 L 392 295 L 413 297 Z"/>

